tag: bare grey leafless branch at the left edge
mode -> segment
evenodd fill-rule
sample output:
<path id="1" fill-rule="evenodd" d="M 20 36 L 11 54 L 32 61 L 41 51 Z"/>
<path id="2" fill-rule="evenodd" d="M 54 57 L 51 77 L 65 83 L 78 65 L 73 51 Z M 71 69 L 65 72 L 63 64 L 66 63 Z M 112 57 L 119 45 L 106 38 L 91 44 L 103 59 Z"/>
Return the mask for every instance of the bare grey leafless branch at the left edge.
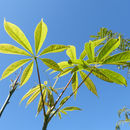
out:
<path id="1" fill-rule="evenodd" d="M 17 88 L 18 79 L 19 79 L 19 77 L 20 77 L 21 72 L 22 72 L 22 68 L 21 68 L 21 70 L 20 70 L 19 75 L 16 77 L 15 81 L 14 81 L 13 84 L 11 85 L 11 90 L 9 91 L 9 95 L 7 96 L 5 102 L 4 102 L 4 104 L 3 104 L 3 106 L 2 106 L 2 108 L 1 108 L 1 110 L 0 110 L 0 117 L 2 116 L 2 113 L 3 113 L 3 111 L 5 110 L 7 104 L 9 104 L 9 100 L 10 100 L 11 96 L 13 95 L 13 93 L 15 92 L 15 90 L 16 90 L 16 88 Z"/>

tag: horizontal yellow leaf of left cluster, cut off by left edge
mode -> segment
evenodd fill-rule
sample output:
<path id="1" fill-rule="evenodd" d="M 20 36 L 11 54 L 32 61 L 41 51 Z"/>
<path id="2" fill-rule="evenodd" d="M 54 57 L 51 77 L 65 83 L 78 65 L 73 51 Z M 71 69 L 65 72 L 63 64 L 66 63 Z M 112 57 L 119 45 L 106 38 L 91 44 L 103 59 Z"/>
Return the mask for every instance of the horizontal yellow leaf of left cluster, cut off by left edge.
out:
<path id="1" fill-rule="evenodd" d="M 0 44 L 0 53 L 31 56 L 26 51 L 11 44 Z"/>

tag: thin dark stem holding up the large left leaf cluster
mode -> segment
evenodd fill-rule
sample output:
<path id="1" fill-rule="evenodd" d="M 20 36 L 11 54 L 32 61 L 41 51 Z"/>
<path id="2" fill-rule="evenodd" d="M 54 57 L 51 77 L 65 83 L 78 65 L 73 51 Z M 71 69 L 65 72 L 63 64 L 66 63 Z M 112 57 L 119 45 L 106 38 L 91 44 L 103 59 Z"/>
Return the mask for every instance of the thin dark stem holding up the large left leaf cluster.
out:
<path id="1" fill-rule="evenodd" d="M 42 98 L 42 108 L 43 108 L 43 114 L 44 114 L 44 118 L 46 116 L 46 110 L 45 110 L 45 104 L 44 104 L 44 100 L 43 100 L 43 94 L 42 94 L 42 86 L 41 86 L 41 79 L 40 79 L 40 73 L 39 73 L 39 67 L 38 67 L 38 62 L 37 62 L 37 58 L 35 57 L 35 62 L 36 62 L 36 68 L 37 68 L 37 76 L 38 76 L 38 81 L 39 81 L 39 86 L 40 86 L 40 93 L 41 93 L 41 98 Z"/>

